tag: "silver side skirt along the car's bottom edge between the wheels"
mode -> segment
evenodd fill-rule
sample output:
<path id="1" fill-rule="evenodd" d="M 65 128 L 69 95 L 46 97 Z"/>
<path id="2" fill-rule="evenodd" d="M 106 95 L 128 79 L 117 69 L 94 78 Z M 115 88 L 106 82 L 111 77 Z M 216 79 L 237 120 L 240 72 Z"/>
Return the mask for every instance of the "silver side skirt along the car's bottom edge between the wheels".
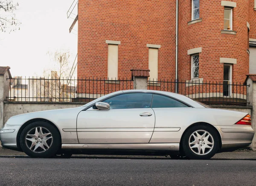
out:
<path id="1" fill-rule="evenodd" d="M 179 143 L 62 144 L 62 149 L 179 151 Z"/>

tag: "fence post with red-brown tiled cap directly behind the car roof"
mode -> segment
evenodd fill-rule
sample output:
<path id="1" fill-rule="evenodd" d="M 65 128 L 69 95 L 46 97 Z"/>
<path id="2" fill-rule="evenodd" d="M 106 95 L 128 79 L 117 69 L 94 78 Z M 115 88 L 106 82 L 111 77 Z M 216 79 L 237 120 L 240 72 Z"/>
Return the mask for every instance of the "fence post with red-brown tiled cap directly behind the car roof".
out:
<path id="1" fill-rule="evenodd" d="M 143 69 L 131 69 L 131 78 L 134 81 L 135 90 L 147 90 L 148 89 L 148 77 L 150 70 Z"/>

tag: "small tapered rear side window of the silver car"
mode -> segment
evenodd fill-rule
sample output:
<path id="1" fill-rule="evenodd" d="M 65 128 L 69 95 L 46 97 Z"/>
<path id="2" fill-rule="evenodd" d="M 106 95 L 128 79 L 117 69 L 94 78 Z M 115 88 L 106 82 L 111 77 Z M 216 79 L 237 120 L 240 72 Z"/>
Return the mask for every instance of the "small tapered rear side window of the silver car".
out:
<path id="1" fill-rule="evenodd" d="M 188 105 L 177 101 L 176 99 L 172 99 L 167 96 L 154 94 L 152 101 L 152 108 L 183 108 L 189 107 Z"/>

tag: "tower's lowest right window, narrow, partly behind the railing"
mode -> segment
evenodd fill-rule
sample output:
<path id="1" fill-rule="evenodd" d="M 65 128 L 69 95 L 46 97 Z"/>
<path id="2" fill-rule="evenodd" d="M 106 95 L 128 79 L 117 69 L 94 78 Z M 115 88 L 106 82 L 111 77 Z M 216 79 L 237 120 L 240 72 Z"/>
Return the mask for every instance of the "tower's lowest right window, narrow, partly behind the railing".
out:
<path id="1" fill-rule="evenodd" d="M 224 73 L 223 73 L 223 96 L 231 96 L 232 92 L 232 65 L 224 64 Z"/>

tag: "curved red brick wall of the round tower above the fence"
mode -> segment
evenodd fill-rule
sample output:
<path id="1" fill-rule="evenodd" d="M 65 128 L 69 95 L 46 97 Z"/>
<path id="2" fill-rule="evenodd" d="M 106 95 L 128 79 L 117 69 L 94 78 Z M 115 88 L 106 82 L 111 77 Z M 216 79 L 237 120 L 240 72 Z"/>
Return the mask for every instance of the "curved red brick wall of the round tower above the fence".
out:
<path id="1" fill-rule="evenodd" d="M 204 81 L 223 81 L 223 64 L 220 58 L 236 58 L 233 65 L 233 82 L 243 82 L 249 73 L 248 31 L 249 1 L 230 0 L 233 8 L 233 31 L 237 35 L 221 34 L 224 28 L 224 6 L 220 0 L 200 1 L 202 22 L 188 26 L 191 20 L 191 1 L 179 2 L 179 79 L 191 79 L 191 58 L 188 49 L 202 47 L 199 54 L 199 78 Z"/>

